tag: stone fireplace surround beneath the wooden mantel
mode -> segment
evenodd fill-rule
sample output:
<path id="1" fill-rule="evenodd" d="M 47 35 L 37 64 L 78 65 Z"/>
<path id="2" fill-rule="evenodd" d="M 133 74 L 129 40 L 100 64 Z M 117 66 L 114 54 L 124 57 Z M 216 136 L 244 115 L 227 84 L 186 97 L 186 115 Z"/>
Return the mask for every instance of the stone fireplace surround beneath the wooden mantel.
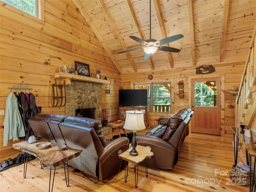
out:
<path id="1" fill-rule="evenodd" d="M 71 81 L 66 86 L 66 115 L 75 116 L 84 108 L 95 108 L 94 118 L 101 121 L 101 84 Z"/>

